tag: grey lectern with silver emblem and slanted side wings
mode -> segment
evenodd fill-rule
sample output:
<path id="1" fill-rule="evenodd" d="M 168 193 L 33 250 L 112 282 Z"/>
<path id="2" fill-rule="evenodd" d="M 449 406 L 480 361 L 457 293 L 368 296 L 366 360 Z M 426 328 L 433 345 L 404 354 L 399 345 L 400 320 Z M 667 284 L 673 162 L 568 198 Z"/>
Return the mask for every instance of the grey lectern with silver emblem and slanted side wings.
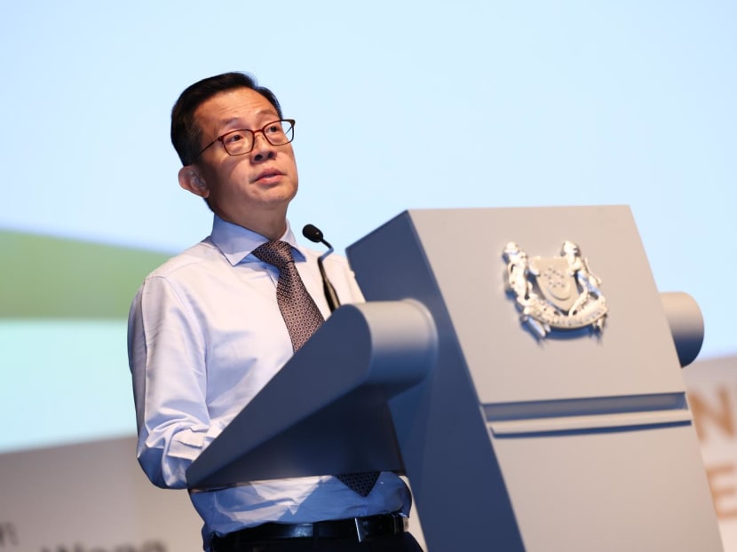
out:
<path id="1" fill-rule="evenodd" d="M 429 552 L 722 550 L 680 375 L 695 353 L 671 327 L 699 340 L 628 208 L 412 210 L 347 253 L 368 303 L 334 313 L 191 486 L 395 469 Z"/>

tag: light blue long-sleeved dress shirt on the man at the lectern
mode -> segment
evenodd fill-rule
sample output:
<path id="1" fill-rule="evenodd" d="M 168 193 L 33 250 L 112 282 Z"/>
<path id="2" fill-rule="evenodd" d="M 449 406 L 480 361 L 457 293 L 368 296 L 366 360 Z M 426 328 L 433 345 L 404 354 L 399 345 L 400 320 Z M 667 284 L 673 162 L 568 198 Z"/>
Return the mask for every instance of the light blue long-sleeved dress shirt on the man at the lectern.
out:
<path id="1" fill-rule="evenodd" d="M 319 254 L 300 248 L 289 227 L 281 240 L 292 246 L 305 287 L 328 318 Z M 216 216 L 210 237 L 149 274 L 133 300 L 128 350 L 138 457 L 155 485 L 184 488 L 192 461 L 293 354 L 276 303 L 279 272 L 250 254 L 265 241 Z M 325 269 L 342 304 L 363 301 L 345 258 L 327 257 Z M 205 549 L 214 532 L 274 521 L 408 515 L 411 503 L 407 485 L 385 472 L 365 498 L 331 476 L 194 490 L 190 497 L 204 520 Z"/>

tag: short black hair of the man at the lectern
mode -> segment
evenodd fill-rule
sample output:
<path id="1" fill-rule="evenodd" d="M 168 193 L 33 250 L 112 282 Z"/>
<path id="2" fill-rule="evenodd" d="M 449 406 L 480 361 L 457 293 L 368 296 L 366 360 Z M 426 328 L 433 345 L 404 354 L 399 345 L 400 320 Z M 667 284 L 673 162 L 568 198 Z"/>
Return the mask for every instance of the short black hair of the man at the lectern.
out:
<path id="1" fill-rule="evenodd" d="M 281 118 L 281 106 L 273 92 L 259 86 L 256 77 L 248 73 L 223 73 L 210 76 L 188 86 L 171 109 L 171 144 L 177 150 L 182 165 L 191 165 L 200 153 L 202 129 L 194 120 L 194 112 L 208 99 L 220 92 L 250 88 L 257 91 L 274 106 Z"/>

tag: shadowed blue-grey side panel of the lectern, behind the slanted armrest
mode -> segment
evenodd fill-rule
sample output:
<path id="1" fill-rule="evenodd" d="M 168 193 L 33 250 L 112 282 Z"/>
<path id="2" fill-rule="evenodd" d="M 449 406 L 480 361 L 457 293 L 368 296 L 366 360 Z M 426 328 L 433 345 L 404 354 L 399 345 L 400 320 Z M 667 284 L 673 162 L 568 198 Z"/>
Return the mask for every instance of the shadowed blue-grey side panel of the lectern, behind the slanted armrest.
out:
<path id="1" fill-rule="evenodd" d="M 348 257 L 368 301 L 416 299 L 438 330 L 431 373 L 390 401 L 429 550 L 522 550 L 485 416 L 411 220 L 392 219 Z"/>

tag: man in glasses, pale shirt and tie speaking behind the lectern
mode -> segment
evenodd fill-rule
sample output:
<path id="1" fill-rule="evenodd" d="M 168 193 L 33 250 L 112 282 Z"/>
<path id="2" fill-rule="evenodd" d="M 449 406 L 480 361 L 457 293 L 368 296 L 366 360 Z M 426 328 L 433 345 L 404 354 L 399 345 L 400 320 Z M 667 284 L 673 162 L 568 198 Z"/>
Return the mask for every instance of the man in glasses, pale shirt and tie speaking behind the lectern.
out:
<path id="1" fill-rule="evenodd" d="M 172 109 L 179 185 L 204 198 L 214 222 L 147 277 L 131 306 L 138 457 L 155 485 L 185 487 L 192 461 L 300 346 L 277 300 L 287 269 L 263 260 L 263 248 L 290 252 L 307 303 L 329 315 L 318 254 L 297 245 L 287 221 L 293 125 L 271 91 L 239 73 L 194 83 Z M 325 268 L 342 303 L 362 301 L 345 259 L 329 256 Z M 411 499 L 395 474 L 380 474 L 366 496 L 333 476 L 237 483 L 190 490 L 206 550 L 420 549 L 404 532 Z M 361 542 L 357 524 L 368 528 Z"/>

